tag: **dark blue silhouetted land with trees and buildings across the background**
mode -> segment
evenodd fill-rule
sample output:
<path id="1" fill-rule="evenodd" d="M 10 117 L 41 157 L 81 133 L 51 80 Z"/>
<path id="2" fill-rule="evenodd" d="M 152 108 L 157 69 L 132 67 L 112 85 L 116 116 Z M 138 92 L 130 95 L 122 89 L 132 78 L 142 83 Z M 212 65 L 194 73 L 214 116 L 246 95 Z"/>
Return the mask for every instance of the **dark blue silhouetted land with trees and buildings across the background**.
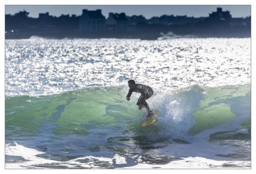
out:
<path id="1" fill-rule="evenodd" d="M 28 17 L 21 11 L 5 15 L 6 38 L 29 38 L 32 35 L 47 37 L 77 38 L 147 38 L 158 37 L 162 32 L 176 35 L 216 37 L 250 37 L 251 17 L 232 18 L 229 11 L 212 12 L 208 17 L 162 15 L 146 19 L 143 15 L 127 16 L 125 13 L 109 13 L 108 18 L 101 10 L 83 10 L 83 14 L 61 15 L 60 17 L 40 13 L 39 18 Z"/>

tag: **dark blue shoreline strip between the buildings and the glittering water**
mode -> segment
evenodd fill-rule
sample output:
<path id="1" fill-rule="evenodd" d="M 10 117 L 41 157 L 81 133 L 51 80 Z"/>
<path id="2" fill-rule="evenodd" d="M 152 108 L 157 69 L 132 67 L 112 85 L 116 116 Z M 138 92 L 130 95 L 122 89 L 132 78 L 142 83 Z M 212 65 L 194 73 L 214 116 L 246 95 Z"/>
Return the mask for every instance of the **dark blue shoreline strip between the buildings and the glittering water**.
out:
<path id="1" fill-rule="evenodd" d="M 171 33 L 171 34 L 170 34 Z M 175 34 L 172 31 L 136 31 L 136 32 L 79 32 L 79 31 L 70 31 L 70 32 L 12 32 L 6 33 L 5 39 L 28 39 L 32 36 L 38 36 L 42 38 L 52 38 L 52 39 L 62 39 L 62 38 L 131 38 L 131 39 L 141 39 L 141 40 L 156 40 L 158 38 L 250 38 L 251 32 L 240 31 L 240 30 L 230 30 L 229 32 L 220 32 L 220 31 L 211 31 L 207 30 L 198 30 L 193 32 L 176 32 Z"/>

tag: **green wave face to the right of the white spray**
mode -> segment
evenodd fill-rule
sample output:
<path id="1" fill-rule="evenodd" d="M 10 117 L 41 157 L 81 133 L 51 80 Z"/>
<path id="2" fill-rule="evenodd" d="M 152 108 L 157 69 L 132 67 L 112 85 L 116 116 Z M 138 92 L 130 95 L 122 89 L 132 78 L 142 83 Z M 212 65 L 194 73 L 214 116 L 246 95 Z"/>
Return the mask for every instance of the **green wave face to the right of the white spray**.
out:
<path id="1" fill-rule="evenodd" d="M 236 115 L 250 117 L 250 96 L 250 86 L 205 89 L 199 106 L 193 111 L 196 124 L 189 130 L 189 133 L 194 135 L 205 129 L 227 123 Z M 243 122 L 241 125 L 245 125 L 247 122 Z"/>

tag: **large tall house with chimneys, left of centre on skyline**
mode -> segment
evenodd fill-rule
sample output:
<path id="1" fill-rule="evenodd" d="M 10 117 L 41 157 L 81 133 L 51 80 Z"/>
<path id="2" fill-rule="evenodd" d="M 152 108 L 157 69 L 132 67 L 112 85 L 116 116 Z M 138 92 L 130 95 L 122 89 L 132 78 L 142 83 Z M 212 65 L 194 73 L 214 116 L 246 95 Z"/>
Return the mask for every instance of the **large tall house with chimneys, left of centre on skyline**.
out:
<path id="1" fill-rule="evenodd" d="M 89 11 L 83 9 L 83 14 L 79 17 L 80 31 L 104 31 L 106 30 L 106 19 L 101 14 L 101 10 Z"/>

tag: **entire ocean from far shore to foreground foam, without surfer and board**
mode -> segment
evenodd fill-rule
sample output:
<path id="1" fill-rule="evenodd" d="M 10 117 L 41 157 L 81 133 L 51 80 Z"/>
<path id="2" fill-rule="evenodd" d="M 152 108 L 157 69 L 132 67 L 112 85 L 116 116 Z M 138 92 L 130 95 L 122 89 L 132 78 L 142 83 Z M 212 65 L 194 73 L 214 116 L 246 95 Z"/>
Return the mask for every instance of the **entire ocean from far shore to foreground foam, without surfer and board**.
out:
<path id="1" fill-rule="evenodd" d="M 5 40 L 5 168 L 251 168 L 250 38 Z M 147 114 L 127 81 L 151 86 Z"/>

